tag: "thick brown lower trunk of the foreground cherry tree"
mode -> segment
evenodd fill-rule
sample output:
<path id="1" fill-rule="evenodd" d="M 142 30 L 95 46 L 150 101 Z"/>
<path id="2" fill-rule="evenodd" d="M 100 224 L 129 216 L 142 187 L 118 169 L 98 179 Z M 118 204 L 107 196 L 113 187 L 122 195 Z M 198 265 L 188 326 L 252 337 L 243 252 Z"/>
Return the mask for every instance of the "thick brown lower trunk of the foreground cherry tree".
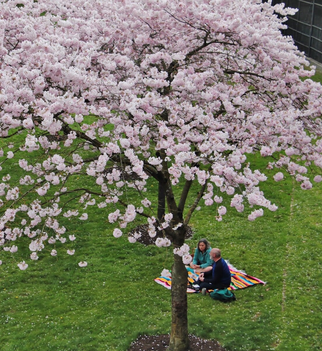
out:
<path id="1" fill-rule="evenodd" d="M 180 235 L 181 237 L 181 235 Z M 184 243 L 175 244 L 180 247 Z M 174 255 L 174 262 L 171 271 L 171 297 L 172 297 L 172 320 L 169 351 L 187 351 L 188 340 L 188 317 L 187 317 L 187 278 L 188 273 L 182 261 L 182 257 Z"/>

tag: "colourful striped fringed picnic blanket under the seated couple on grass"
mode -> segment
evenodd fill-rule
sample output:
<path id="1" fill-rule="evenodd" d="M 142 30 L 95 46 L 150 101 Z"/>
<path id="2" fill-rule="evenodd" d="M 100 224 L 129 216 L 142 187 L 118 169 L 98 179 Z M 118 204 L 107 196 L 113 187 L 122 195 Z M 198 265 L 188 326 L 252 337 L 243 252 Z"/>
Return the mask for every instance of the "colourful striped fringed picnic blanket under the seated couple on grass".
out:
<path id="1" fill-rule="evenodd" d="M 232 266 L 229 262 L 227 262 L 232 282 L 228 290 L 237 290 L 237 289 L 244 289 L 245 287 L 252 286 L 255 284 L 265 284 L 262 280 L 249 276 L 243 271 L 237 270 L 234 266 Z M 198 280 L 198 273 L 194 273 L 193 269 L 186 266 L 188 271 L 188 282 L 187 282 L 187 292 L 198 292 L 194 289 L 190 289 L 189 285 L 193 285 Z M 169 277 L 158 277 L 154 279 L 160 285 L 163 285 L 167 289 L 171 289 L 171 275 Z"/>

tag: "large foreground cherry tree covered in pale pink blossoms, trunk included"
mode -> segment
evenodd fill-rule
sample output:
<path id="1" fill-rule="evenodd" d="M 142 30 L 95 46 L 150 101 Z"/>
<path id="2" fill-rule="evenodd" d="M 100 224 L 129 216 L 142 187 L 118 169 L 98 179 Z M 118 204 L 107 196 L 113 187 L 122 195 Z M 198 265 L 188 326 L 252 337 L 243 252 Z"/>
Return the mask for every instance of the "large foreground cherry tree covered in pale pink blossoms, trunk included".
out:
<path id="1" fill-rule="evenodd" d="M 218 221 L 229 207 L 251 206 L 249 220 L 275 211 L 254 152 L 275 181 L 322 179 L 322 89 L 280 33 L 293 13 L 255 0 L 2 0 L 2 250 L 27 243 L 25 270 L 57 244 L 74 254 L 61 218 L 87 220 L 88 206 L 115 237 L 145 217 L 152 238 L 164 233 L 156 245 L 173 245 L 169 350 L 186 350 L 194 210 L 213 206 Z"/>

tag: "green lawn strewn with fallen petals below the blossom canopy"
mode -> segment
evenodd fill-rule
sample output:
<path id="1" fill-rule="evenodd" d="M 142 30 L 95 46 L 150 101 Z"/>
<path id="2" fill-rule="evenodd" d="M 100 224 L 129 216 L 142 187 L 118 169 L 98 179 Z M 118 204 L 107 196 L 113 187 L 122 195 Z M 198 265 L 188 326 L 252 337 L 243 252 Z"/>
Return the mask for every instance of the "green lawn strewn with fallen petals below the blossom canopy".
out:
<path id="1" fill-rule="evenodd" d="M 287 178 L 264 188 L 279 210 L 254 222 L 234 210 L 217 222 L 211 207 L 193 217 L 191 247 L 207 237 L 267 284 L 236 291 L 229 304 L 189 294 L 189 332 L 231 351 L 320 350 L 321 187 L 303 191 Z M 75 255 L 47 253 L 26 271 L 0 251 L 1 351 L 125 351 L 139 334 L 170 332 L 170 291 L 153 279 L 171 268 L 171 247 L 130 244 L 112 229 L 101 212 L 70 224 Z"/>

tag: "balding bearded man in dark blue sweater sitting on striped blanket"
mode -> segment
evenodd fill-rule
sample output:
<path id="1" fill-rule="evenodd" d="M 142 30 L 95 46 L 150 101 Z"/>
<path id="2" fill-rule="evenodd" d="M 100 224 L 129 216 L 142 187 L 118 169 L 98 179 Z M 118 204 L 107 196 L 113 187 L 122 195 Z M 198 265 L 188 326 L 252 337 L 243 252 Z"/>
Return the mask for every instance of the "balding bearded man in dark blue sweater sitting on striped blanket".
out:
<path id="1" fill-rule="evenodd" d="M 213 260 L 212 266 L 203 269 L 199 274 L 197 285 L 200 289 L 207 290 L 225 289 L 231 283 L 231 274 L 226 261 L 221 257 L 219 249 L 211 249 L 210 258 Z"/>

